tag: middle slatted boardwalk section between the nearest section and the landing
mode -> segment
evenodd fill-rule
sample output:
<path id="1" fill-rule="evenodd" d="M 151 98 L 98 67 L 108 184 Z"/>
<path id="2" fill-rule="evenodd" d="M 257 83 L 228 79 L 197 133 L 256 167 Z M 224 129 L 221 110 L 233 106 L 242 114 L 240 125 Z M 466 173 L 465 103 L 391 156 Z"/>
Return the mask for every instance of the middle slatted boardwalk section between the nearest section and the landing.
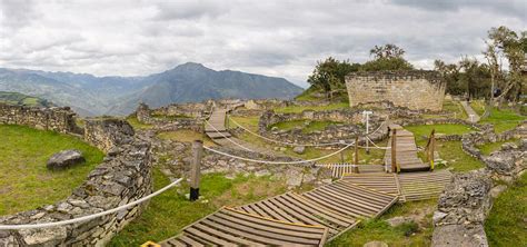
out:
<path id="1" fill-rule="evenodd" d="M 325 226 L 334 239 L 361 218 L 379 216 L 396 201 L 397 196 L 339 180 L 305 194 L 287 192 L 237 209 L 288 223 Z"/>

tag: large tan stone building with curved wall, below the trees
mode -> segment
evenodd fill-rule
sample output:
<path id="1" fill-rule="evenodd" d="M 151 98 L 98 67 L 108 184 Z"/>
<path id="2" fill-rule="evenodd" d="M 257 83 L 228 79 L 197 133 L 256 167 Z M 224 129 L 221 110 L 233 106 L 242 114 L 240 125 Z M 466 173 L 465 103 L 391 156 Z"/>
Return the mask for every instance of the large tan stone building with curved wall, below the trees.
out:
<path id="1" fill-rule="evenodd" d="M 346 77 L 349 103 L 390 101 L 414 110 L 441 110 L 446 81 L 436 71 L 362 71 Z"/>

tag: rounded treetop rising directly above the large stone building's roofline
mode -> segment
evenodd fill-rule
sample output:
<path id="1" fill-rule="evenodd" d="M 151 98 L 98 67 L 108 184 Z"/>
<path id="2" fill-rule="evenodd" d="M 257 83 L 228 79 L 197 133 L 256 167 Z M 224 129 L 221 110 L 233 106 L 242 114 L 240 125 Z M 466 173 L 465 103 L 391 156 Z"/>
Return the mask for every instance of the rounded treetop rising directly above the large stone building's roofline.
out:
<path id="1" fill-rule="evenodd" d="M 405 52 L 402 48 L 392 43 L 375 46 L 369 51 L 374 60 L 367 61 L 360 69 L 364 71 L 411 70 L 414 66 L 402 57 Z"/>

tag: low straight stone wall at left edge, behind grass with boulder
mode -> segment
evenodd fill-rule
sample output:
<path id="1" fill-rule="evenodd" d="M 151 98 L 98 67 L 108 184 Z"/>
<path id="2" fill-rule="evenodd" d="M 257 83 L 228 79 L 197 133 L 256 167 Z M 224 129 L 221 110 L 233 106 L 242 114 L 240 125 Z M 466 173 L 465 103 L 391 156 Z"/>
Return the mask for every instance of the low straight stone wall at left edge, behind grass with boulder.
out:
<path id="1" fill-rule="evenodd" d="M 37 108 L 0 103 L 0 124 L 29 126 L 64 134 L 82 134 L 69 107 Z"/>

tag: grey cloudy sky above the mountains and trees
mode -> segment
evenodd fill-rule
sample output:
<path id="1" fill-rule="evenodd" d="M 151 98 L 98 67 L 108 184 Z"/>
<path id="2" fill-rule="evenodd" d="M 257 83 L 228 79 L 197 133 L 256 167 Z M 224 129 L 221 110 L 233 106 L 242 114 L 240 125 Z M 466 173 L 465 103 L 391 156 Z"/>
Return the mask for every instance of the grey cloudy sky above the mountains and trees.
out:
<path id="1" fill-rule="evenodd" d="M 195 61 L 305 85 L 317 60 L 396 43 L 418 68 L 526 30 L 525 0 L 0 0 L 0 67 L 143 76 Z"/>

